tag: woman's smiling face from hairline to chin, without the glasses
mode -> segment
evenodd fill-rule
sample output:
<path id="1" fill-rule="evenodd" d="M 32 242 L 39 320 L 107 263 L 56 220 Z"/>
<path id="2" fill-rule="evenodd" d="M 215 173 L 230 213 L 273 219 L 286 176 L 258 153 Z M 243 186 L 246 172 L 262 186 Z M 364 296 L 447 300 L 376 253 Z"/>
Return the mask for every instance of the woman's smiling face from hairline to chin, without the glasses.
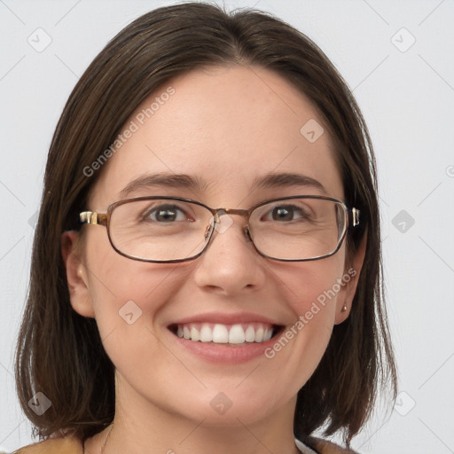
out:
<path id="1" fill-rule="evenodd" d="M 153 110 L 143 110 L 153 102 Z M 303 194 L 343 200 L 333 143 L 320 129 L 319 114 L 264 68 L 192 71 L 153 93 L 125 129 L 130 121 L 137 130 L 123 135 L 124 144 L 102 168 L 87 209 L 105 212 L 116 200 L 147 195 L 234 208 Z M 121 193 L 137 177 L 153 174 L 184 174 L 200 185 L 140 185 Z M 276 174 L 301 174 L 320 185 L 282 178 L 253 187 Z M 350 275 L 349 284 L 339 286 L 347 273 L 344 245 L 314 262 L 273 261 L 254 250 L 241 216 L 230 219 L 199 258 L 166 264 L 130 260 L 114 251 L 106 228 L 84 227 L 80 262 L 75 250 L 67 262 L 77 270 L 70 278 L 67 266 L 71 302 L 97 320 L 123 408 L 214 426 L 239 419 L 252 424 L 281 411 L 293 418 L 296 394 L 323 356 L 333 325 L 348 316 L 341 308 L 351 302 L 356 279 Z M 193 324 L 220 325 L 222 333 L 252 326 L 258 340 L 261 326 L 281 331 L 243 346 L 178 337 L 177 326 L 191 332 Z"/>

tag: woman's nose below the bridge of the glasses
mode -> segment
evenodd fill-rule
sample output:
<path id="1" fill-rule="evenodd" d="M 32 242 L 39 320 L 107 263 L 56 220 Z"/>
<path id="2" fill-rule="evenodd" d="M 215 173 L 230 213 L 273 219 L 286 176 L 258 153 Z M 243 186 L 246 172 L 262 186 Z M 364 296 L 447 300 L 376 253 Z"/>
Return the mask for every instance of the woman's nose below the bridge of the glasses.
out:
<path id="1" fill-rule="evenodd" d="M 244 219 L 223 214 L 219 221 L 207 250 L 197 259 L 196 284 L 225 295 L 259 289 L 265 283 L 265 259 L 255 251 Z"/>

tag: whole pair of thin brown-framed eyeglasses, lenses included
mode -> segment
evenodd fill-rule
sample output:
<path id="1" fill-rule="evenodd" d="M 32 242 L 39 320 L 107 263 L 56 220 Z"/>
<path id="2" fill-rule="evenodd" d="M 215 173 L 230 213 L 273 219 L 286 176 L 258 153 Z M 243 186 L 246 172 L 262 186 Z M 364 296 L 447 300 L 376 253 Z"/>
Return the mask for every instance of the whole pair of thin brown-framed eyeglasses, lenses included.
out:
<path id="1" fill-rule="evenodd" d="M 83 211 L 81 223 L 105 225 L 114 250 L 142 262 L 175 263 L 203 254 L 215 236 L 246 218 L 244 233 L 264 257 L 283 262 L 318 260 L 336 254 L 359 210 L 341 200 L 300 195 L 263 201 L 249 209 L 210 208 L 179 197 L 119 200 L 106 213 Z"/>

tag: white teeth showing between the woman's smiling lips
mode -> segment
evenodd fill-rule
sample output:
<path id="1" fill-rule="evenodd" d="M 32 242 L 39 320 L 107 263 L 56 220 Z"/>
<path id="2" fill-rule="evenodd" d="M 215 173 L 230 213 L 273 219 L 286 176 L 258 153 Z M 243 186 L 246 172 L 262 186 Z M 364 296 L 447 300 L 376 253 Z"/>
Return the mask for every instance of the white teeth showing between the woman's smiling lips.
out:
<path id="1" fill-rule="evenodd" d="M 242 347 L 267 342 L 282 331 L 282 325 L 243 323 L 223 325 L 213 323 L 188 323 L 170 325 L 168 329 L 180 339 L 213 345 Z"/>

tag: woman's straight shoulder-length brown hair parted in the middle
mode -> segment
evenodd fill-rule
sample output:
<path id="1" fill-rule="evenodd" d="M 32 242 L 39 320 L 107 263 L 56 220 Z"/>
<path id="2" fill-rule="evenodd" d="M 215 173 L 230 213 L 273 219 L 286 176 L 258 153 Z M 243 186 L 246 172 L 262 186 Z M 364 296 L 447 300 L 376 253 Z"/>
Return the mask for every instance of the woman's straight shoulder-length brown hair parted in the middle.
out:
<path id="1" fill-rule="evenodd" d="M 114 142 L 137 106 L 171 77 L 194 68 L 266 67 L 304 93 L 336 143 L 345 201 L 361 210 L 364 266 L 348 319 L 335 325 L 316 372 L 298 394 L 294 434 L 342 430 L 346 442 L 369 417 L 380 385 L 395 396 L 395 363 L 383 303 L 380 220 L 370 137 L 340 74 L 308 37 L 268 13 L 226 13 L 187 3 L 148 12 L 108 43 L 77 82 L 52 138 L 36 225 L 27 308 L 20 328 L 16 380 L 35 434 L 73 431 L 82 439 L 114 418 L 114 365 L 95 320 L 69 302 L 61 256 L 63 231 L 79 230 L 96 174 L 84 168 Z M 38 416 L 27 402 L 42 391 L 51 408 Z"/>

